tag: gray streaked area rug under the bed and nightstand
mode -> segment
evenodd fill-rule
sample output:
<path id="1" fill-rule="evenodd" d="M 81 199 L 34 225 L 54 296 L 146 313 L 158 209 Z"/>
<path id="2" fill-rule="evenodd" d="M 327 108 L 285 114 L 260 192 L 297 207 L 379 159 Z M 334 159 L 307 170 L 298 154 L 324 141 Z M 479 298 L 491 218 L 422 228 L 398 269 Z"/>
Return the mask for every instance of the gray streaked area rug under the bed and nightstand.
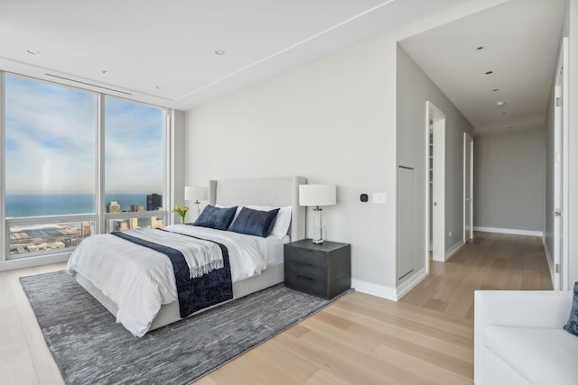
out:
<path id="1" fill-rule="evenodd" d="M 280 284 L 136 338 L 64 271 L 20 281 L 69 384 L 188 383 L 340 298 Z"/>

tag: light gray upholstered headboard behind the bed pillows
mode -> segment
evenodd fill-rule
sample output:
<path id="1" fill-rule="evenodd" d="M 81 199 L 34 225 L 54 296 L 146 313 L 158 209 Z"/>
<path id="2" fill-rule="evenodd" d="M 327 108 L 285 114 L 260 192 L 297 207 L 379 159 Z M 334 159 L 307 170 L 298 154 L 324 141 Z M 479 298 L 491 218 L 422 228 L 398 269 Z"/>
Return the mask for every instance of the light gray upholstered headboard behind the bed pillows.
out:
<path id="1" fill-rule="evenodd" d="M 305 238 L 305 206 L 299 206 L 299 185 L 303 177 L 271 179 L 223 179 L 209 181 L 210 205 L 292 206 L 291 241 Z"/>

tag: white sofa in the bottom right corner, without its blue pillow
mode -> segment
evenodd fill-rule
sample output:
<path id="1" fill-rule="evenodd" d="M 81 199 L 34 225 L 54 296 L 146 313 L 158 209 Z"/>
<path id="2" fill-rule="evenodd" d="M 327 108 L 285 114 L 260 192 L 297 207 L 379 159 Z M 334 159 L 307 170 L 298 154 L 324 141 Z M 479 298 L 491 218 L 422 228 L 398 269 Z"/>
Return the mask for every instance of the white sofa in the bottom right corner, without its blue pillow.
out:
<path id="1" fill-rule="evenodd" d="M 578 384 L 578 336 L 563 329 L 572 300 L 572 291 L 476 291 L 474 383 Z"/>

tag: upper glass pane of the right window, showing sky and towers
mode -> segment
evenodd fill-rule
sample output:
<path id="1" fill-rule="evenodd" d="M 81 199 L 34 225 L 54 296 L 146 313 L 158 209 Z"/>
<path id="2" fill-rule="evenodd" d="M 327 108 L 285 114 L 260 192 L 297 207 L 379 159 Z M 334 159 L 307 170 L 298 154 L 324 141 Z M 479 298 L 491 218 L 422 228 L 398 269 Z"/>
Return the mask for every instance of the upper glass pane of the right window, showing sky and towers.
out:
<path id="1" fill-rule="evenodd" d="M 164 109 L 105 97 L 105 212 L 163 209 Z"/>

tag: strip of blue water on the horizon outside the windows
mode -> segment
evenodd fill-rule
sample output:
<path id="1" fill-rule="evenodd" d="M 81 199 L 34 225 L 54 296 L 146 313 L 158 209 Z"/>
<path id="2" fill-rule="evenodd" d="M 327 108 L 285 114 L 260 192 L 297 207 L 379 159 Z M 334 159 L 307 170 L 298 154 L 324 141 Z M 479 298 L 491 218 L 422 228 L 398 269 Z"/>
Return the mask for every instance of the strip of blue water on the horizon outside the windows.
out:
<path id="1" fill-rule="evenodd" d="M 117 201 L 121 211 L 130 211 L 131 205 L 144 206 L 151 193 L 106 194 L 105 211 L 110 201 Z M 10 194 L 6 193 L 6 217 L 70 215 L 95 213 L 93 194 Z"/>

